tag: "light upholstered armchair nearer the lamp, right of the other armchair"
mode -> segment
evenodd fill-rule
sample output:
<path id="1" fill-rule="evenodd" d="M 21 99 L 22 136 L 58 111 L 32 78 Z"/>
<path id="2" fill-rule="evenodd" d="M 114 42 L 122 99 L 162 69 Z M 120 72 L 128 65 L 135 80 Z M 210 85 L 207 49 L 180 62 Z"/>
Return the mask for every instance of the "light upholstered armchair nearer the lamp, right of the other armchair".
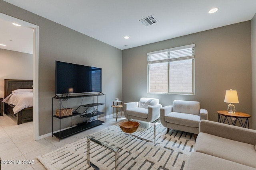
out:
<path id="1" fill-rule="evenodd" d="M 160 120 L 167 127 L 167 133 L 171 128 L 197 135 L 202 119 L 208 119 L 208 111 L 201 109 L 200 103 L 195 101 L 174 100 L 172 106 L 160 109 Z"/>

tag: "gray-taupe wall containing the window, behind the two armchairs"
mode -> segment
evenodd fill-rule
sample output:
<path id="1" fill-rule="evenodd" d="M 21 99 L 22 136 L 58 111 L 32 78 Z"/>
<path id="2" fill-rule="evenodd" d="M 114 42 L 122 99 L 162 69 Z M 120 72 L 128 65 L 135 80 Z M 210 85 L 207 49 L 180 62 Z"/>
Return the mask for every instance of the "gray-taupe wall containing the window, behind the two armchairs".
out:
<path id="1" fill-rule="evenodd" d="M 195 95 L 148 94 L 147 52 L 182 45 L 195 47 Z M 122 51 L 122 98 L 124 102 L 141 97 L 159 98 L 163 106 L 173 100 L 199 101 L 218 121 L 218 110 L 226 110 L 226 90 L 237 90 L 237 111 L 252 114 L 252 66 L 250 21 L 202 31 Z M 251 125 L 251 120 L 250 120 Z"/>

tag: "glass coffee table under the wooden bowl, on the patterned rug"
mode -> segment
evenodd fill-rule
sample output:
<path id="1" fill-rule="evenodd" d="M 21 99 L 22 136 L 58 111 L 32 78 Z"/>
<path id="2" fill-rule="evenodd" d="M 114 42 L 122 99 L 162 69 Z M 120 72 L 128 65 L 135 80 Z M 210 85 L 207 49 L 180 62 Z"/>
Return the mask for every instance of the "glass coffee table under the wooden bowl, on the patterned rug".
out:
<path id="1" fill-rule="evenodd" d="M 132 120 L 132 119 L 130 119 Z M 156 140 L 156 123 L 150 123 L 140 120 L 132 120 L 140 123 L 137 131 L 134 133 L 124 133 L 118 125 L 111 126 L 103 131 L 95 133 L 87 137 L 87 164 L 95 169 L 99 169 L 96 165 L 90 162 L 90 141 L 100 145 L 115 153 L 115 169 L 118 170 L 118 152 L 126 144 L 130 143 L 133 139 L 138 138 L 144 141 L 155 143 Z M 142 137 L 144 132 L 150 128 L 154 128 L 153 139 L 146 139 Z"/>

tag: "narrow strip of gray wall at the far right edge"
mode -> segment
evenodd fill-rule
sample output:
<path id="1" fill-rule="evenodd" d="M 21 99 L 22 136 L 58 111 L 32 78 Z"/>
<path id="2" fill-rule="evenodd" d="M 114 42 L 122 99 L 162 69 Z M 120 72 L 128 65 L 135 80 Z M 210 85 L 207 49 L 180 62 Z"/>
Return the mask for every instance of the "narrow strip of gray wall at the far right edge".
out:
<path id="1" fill-rule="evenodd" d="M 256 14 L 252 22 L 252 129 L 256 130 Z"/>

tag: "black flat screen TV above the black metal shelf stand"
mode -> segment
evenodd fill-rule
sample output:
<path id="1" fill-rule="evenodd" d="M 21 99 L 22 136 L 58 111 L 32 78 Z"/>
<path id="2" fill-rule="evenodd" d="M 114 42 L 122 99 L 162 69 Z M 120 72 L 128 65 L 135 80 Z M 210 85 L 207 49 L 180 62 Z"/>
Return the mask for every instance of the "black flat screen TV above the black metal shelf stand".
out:
<path id="1" fill-rule="evenodd" d="M 56 61 L 55 94 L 101 92 L 101 68 Z"/>

